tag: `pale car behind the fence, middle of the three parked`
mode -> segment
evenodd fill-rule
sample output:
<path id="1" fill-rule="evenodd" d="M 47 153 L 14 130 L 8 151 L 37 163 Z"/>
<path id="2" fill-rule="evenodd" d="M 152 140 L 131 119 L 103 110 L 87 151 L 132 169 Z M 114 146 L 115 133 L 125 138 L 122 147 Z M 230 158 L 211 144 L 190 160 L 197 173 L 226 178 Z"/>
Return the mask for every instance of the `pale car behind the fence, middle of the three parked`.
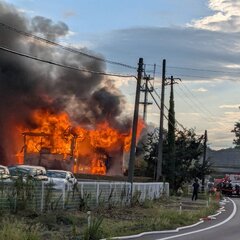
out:
<path id="1" fill-rule="evenodd" d="M 10 175 L 13 178 L 22 176 L 24 179 L 29 177 L 39 181 L 48 180 L 46 169 L 41 166 L 14 165 L 14 166 L 9 166 L 8 169 L 9 169 Z"/>

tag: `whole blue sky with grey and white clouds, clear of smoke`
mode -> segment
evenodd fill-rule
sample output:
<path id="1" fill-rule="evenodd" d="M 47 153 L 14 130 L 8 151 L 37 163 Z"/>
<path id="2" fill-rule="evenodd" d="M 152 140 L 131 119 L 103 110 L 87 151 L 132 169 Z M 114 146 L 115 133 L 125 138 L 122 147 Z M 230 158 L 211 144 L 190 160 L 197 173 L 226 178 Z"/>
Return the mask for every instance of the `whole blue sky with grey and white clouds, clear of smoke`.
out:
<path id="1" fill-rule="evenodd" d="M 176 117 L 198 134 L 207 129 L 214 149 L 232 146 L 231 129 L 239 120 L 240 1 L 238 0 L 8 0 L 28 17 L 65 22 L 64 44 L 88 49 L 107 59 L 136 66 L 167 60 L 175 87 Z M 106 70 L 128 73 L 107 65 Z M 151 68 L 149 66 L 149 68 Z M 200 69 L 200 70 L 197 70 Z M 155 86 L 160 87 L 160 67 Z M 135 82 L 115 79 L 132 111 Z M 169 89 L 166 89 L 168 105 Z M 158 124 L 156 106 L 148 121 Z"/>

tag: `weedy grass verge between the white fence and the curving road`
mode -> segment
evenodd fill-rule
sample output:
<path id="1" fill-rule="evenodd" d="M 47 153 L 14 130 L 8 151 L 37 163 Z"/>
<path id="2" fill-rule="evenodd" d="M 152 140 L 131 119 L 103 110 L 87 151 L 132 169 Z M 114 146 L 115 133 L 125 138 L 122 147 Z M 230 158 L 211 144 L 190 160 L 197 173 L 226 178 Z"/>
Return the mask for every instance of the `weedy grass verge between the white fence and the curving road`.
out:
<path id="1" fill-rule="evenodd" d="M 91 209 L 91 214 L 87 206 L 78 211 L 2 212 L 0 239 L 89 240 L 175 229 L 196 223 L 201 217 L 216 212 L 218 202 L 214 196 L 209 204 L 205 195 L 200 197 L 196 202 L 186 196 L 146 200 L 143 203 L 136 201 L 132 207 L 100 206 Z"/>

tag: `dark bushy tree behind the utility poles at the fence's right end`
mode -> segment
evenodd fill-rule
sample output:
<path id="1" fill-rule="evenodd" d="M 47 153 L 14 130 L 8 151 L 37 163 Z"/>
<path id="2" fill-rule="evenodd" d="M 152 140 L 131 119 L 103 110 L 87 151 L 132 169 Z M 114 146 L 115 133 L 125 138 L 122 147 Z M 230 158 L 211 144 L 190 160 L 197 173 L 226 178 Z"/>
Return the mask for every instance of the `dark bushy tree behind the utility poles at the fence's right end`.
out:
<path id="1" fill-rule="evenodd" d="M 171 183 L 170 188 L 174 191 L 181 187 L 183 183 L 199 176 L 198 171 L 202 170 L 200 159 L 203 153 L 203 145 L 194 130 L 189 129 L 177 131 L 175 148 L 175 178 L 172 182 L 171 162 L 168 161 L 169 147 L 166 139 L 163 141 L 163 175 L 166 181 Z M 144 150 L 144 160 L 147 163 L 145 175 L 154 177 L 158 151 L 158 129 L 148 134 Z"/>

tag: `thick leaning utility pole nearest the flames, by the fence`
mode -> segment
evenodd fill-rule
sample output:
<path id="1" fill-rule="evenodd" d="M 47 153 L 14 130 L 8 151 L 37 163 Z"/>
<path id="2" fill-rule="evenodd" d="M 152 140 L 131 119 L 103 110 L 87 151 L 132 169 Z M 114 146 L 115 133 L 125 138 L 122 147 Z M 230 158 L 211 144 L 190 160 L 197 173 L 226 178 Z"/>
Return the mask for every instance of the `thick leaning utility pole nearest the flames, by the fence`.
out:
<path id="1" fill-rule="evenodd" d="M 143 58 L 139 58 L 135 107 L 134 107 L 133 124 L 132 124 L 131 149 L 130 149 L 130 158 L 129 158 L 129 163 L 128 163 L 128 182 L 131 183 L 131 195 L 130 195 L 131 197 L 132 197 L 132 193 L 133 193 L 132 190 L 133 190 L 134 163 L 135 163 L 135 153 L 136 153 L 136 135 L 137 135 L 142 72 L 143 72 Z"/>

